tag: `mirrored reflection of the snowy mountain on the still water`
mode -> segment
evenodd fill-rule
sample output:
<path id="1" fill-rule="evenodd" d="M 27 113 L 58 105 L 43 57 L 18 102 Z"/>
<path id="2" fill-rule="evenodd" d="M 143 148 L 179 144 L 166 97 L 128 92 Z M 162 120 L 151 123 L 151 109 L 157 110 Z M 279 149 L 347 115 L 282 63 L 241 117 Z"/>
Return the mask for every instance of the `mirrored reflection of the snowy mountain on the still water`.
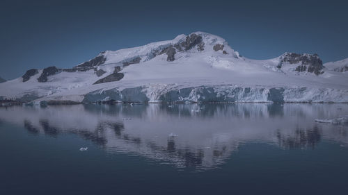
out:
<path id="1" fill-rule="evenodd" d="M 347 112 L 347 104 L 69 105 L 0 108 L 0 121 L 35 135 L 78 135 L 111 154 L 213 169 L 248 142 L 281 149 L 315 149 L 323 140 L 345 146 L 347 126 L 315 119 Z"/>

